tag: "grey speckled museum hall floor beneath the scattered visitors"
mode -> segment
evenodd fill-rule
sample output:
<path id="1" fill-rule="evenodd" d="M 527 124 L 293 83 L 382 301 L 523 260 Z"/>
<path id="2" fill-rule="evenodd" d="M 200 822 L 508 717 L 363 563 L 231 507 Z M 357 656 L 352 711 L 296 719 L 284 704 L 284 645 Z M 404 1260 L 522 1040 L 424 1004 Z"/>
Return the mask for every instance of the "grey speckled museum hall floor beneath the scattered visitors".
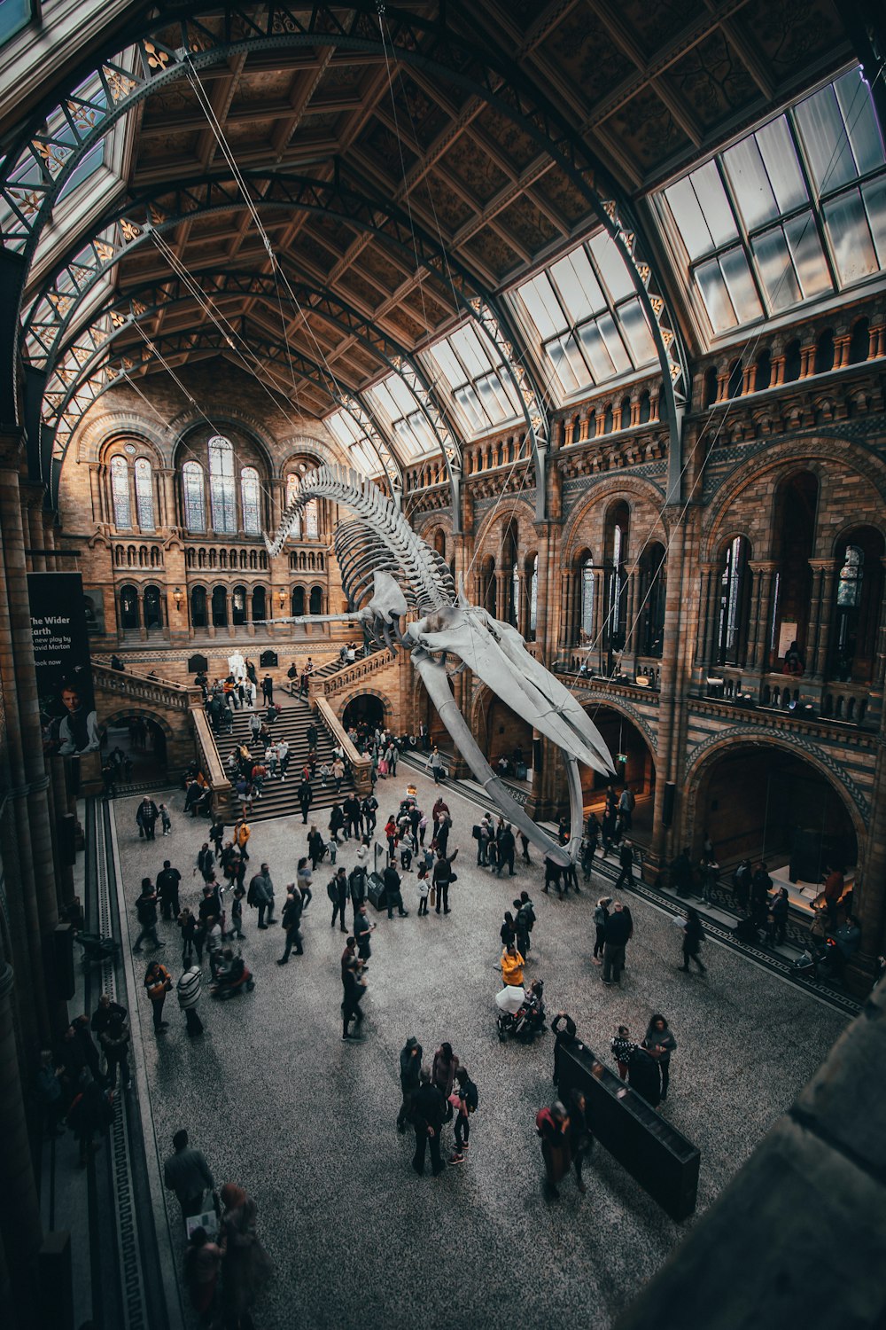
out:
<path id="1" fill-rule="evenodd" d="M 380 825 L 408 781 L 425 809 L 433 782 L 401 766 L 380 782 Z M 246 911 L 243 955 L 256 978 L 251 995 L 218 1004 L 205 999 L 206 1037 L 190 1041 L 174 1003 L 169 1029 L 151 1031 L 134 974 L 141 1045 L 137 1083 L 145 1137 L 157 1157 L 186 1127 L 217 1181 L 236 1181 L 258 1201 L 259 1232 L 276 1278 L 258 1307 L 259 1330 L 413 1327 L 445 1322 L 525 1327 L 574 1323 L 604 1327 L 663 1264 L 688 1225 L 677 1225 L 598 1148 L 586 1170 L 587 1194 L 573 1181 L 559 1204 L 542 1198 L 537 1109 L 551 1099 L 553 1039 L 501 1045 L 493 995 L 499 987 L 498 927 L 514 892 L 529 888 L 538 923 L 533 976 L 546 983 L 549 1012 L 566 1008 L 590 1047 L 611 1061 L 608 1040 L 624 1023 L 640 1037 L 654 1011 L 676 1033 L 667 1117 L 701 1150 L 699 1212 L 788 1107 L 845 1025 L 845 1017 L 743 956 L 708 944 L 705 978 L 679 974 L 680 935 L 671 918 L 631 899 L 635 936 L 622 988 L 606 988 L 591 963 L 595 884 L 559 903 L 541 888 L 537 862 L 501 880 L 477 868 L 470 827 L 478 813 L 446 789 L 461 846 L 453 912 L 417 918 L 414 874 L 406 875 L 408 919 L 375 915 L 367 1039 L 341 1041 L 339 958 L 344 938 L 329 927 L 328 874 L 320 870 L 306 914 L 306 955 L 278 967 L 282 931 L 256 931 Z M 114 805 L 126 900 L 163 858 L 182 871 L 183 902 L 197 899 L 191 868 L 205 823 L 181 815 L 174 830 L 139 843 L 135 799 Z M 271 866 L 278 892 L 303 854 L 299 819 L 258 823 L 251 866 Z M 538 861 L 538 851 L 533 851 Z M 339 864 L 351 867 L 344 849 Z M 130 938 L 134 911 L 126 924 Z M 161 924 L 158 955 L 179 974 L 178 934 Z M 412 1133 L 395 1129 L 400 1103 L 399 1052 L 416 1035 L 433 1055 L 449 1039 L 480 1088 L 468 1161 L 434 1180 L 410 1168 Z M 445 1129 L 452 1145 L 452 1128 Z M 178 1206 L 169 1197 L 173 1234 Z M 689 1221 L 692 1222 L 692 1221 Z"/>

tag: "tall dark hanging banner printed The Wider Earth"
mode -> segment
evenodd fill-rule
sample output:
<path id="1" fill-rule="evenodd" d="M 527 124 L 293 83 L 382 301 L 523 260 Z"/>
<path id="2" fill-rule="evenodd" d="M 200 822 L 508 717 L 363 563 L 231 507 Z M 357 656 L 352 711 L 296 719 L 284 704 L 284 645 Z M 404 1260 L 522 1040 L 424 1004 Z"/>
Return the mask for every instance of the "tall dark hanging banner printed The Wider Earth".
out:
<path id="1" fill-rule="evenodd" d="M 80 573 L 28 573 L 44 750 L 72 757 L 101 742 Z"/>

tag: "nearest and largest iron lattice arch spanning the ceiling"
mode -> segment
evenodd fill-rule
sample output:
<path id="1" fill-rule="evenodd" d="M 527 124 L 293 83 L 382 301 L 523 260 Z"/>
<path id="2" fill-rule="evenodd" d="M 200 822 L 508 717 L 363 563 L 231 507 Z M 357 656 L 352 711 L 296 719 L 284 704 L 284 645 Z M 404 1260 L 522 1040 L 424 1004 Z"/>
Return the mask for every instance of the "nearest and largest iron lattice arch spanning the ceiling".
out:
<path id="1" fill-rule="evenodd" d="M 317 47 L 383 53 L 385 59 L 391 48 L 395 60 L 420 66 L 432 78 L 448 80 L 495 106 L 569 174 L 615 242 L 647 313 L 662 364 L 673 466 L 688 390 L 687 359 L 651 263 L 638 243 L 638 225 L 627 201 L 575 128 L 517 64 L 487 49 L 484 37 L 468 39 L 445 21 L 380 5 L 377 0 L 351 0 L 344 11 L 328 3 L 195 3 L 170 5 L 154 19 L 142 17 L 117 39 L 116 49 L 97 68 L 81 68 L 57 102 L 53 98 L 39 109 L 24 141 L 7 157 L 0 178 L 4 245 L 23 253 L 29 267 L 56 202 L 85 156 L 153 90 L 250 52 Z M 125 235 L 125 229 L 138 222 L 121 217 L 117 225 Z M 114 245 L 116 239 L 105 237 L 100 243 Z M 56 293 L 58 298 L 64 294 Z"/>

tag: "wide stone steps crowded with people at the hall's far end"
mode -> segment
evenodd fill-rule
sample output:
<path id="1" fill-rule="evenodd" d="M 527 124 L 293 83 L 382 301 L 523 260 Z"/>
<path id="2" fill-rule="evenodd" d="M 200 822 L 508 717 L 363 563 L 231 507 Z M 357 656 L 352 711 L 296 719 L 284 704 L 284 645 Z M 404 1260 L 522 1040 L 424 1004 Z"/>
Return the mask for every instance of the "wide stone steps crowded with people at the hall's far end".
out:
<path id="1" fill-rule="evenodd" d="M 262 716 L 262 710 L 258 710 Z M 252 742 L 252 734 L 250 732 L 250 718 L 252 712 L 248 708 L 240 706 L 239 710 L 232 713 L 234 726 L 231 730 L 217 737 L 215 743 L 218 746 L 219 757 L 224 763 L 224 770 L 227 770 L 227 758 L 230 757 L 231 749 L 235 743 L 246 743 L 252 757 L 258 757 L 262 753 L 262 745 Z M 286 781 L 282 781 L 279 775 L 268 777 L 264 782 L 264 791 L 260 799 L 252 801 L 252 811 L 250 814 L 250 822 L 266 822 L 268 818 L 283 818 L 298 815 L 302 817 L 302 806 L 295 797 L 295 791 L 302 783 L 302 767 L 304 766 L 308 757 L 308 725 L 313 721 L 317 730 L 317 770 L 327 762 L 332 766 L 332 737 L 325 729 L 323 720 L 308 706 L 307 702 L 299 701 L 298 698 L 287 698 L 283 705 L 276 721 L 270 726 L 271 734 L 275 741 L 284 738 L 290 745 L 290 766 L 287 769 Z M 308 813 L 308 826 L 311 822 L 316 822 L 317 827 L 323 831 L 327 829 L 328 810 L 336 802 L 335 783 L 329 781 L 327 787 L 323 787 L 323 782 L 319 775 L 311 781 L 311 787 L 313 790 L 313 803 Z M 337 795 L 339 802 L 345 799 L 348 794 L 353 793 L 355 783 L 351 771 L 347 770 L 345 777 L 341 782 L 341 791 Z"/>

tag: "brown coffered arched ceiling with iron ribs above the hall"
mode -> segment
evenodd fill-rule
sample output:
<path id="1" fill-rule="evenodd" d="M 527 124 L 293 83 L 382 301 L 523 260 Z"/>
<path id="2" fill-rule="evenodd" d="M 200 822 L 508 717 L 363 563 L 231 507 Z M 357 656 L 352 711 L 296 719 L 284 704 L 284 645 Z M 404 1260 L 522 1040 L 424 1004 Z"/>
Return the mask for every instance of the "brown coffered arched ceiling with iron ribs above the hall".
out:
<path id="1" fill-rule="evenodd" d="M 57 326 L 43 358 L 29 326 L 25 354 L 52 370 L 76 346 L 96 317 L 84 293 L 101 269 L 109 309 L 161 290 L 141 331 L 130 318 L 109 327 L 133 372 L 158 368 L 132 354 L 145 335 L 174 346 L 178 363 L 227 354 L 215 310 L 263 346 L 288 347 L 271 378 L 316 415 L 331 408 L 331 387 L 359 394 L 392 350 L 414 358 L 472 299 L 502 319 L 541 399 L 501 294 L 595 225 L 663 329 L 654 331 L 673 414 L 685 390 L 679 319 L 639 200 L 850 53 L 832 0 L 161 4 L 150 15 L 93 61 L 94 105 L 69 94 L 84 65 L 46 90 L 7 158 L 8 170 L 29 152 L 41 173 L 28 177 L 31 197 L 15 182 L 4 190 L 15 203 L 4 243 L 33 261 L 74 158 L 113 117 L 129 117 L 122 193 L 65 237 L 68 259 L 89 239 L 108 261 L 93 253 L 82 281 L 68 263 L 32 282 L 25 297 L 49 290 Z M 78 126 L 73 156 L 46 130 L 54 105 Z M 287 181 L 302 182 L 300 206 L 283 197 Z M 201 203 L 213 192 L 227 203 Z M 332 196 L 347 206 L 331 206 Z M 218 270 L 255 281 L 210 291 L 207 309 L 182 271 L 205 289 Z"/>

